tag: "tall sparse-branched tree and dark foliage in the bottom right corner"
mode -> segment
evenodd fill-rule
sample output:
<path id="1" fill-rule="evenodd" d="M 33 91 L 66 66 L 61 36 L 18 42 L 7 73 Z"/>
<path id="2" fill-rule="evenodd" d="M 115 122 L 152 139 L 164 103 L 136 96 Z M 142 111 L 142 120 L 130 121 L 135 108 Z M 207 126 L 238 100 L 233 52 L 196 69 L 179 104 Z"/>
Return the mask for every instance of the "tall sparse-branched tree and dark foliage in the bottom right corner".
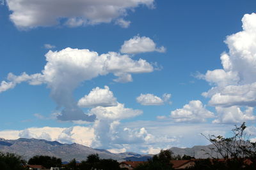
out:
<path id="1" fill-rule="evenodd" d="M 189 169 L 205 170 L 251 170 L 256 169 L 256 144 L 250 142 L 249 135 L 244 131 L 245 123 L 232 129 L 233 136 L 208 136 L 207 138 L 217 153 L 217 159 L 200 159 L 195 161 L 195 166 Z M 218 158 L 221 159 L 218 159 Z"/>

